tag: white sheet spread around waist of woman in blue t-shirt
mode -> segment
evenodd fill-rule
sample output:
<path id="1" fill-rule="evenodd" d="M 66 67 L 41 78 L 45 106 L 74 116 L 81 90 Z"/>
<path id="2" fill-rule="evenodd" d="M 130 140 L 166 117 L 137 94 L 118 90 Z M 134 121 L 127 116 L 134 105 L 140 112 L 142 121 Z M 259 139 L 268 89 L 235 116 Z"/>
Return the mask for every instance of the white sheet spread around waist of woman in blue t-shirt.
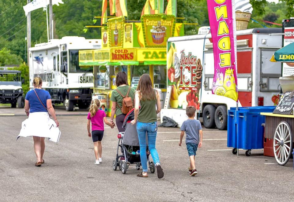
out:
<path id="1" fill-rule="evenodd" d="M 21 136 L 37 136 L 58 143 L 60 135 L 59 128 L 56 127 L 55 121 L 50 119 L 48 112 L 33 112 L 21 123 L 21 131 L 16 140 Z"/>

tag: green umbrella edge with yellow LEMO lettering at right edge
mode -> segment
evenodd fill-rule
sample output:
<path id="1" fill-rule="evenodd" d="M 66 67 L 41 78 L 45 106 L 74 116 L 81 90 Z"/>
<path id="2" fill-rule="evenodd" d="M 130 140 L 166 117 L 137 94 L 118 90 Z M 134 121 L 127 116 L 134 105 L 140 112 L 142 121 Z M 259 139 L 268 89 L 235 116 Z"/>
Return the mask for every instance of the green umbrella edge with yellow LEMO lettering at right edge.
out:
<path id="1" fill-rule="evenodd" d="M 277 50 L 273 53 L 272 58 L 270 58 L 272 62 L 286 62 L 294 64 L 294 42 L 284 46 L 283 48 Z M 289 65 L 292 66 L 292 65 Z M 292 66 L 293 67 L 293 66 Z"/>

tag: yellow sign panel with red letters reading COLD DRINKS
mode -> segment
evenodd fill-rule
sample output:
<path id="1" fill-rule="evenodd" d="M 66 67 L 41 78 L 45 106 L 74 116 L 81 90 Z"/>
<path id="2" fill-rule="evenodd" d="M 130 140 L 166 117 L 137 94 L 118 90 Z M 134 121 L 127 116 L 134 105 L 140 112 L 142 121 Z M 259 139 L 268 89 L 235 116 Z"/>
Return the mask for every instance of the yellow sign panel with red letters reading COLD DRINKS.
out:
<path id="1" fill-rule="evenodd" d="M 136 61 L 134 48 L 111 49 L 111 61 Z"/>

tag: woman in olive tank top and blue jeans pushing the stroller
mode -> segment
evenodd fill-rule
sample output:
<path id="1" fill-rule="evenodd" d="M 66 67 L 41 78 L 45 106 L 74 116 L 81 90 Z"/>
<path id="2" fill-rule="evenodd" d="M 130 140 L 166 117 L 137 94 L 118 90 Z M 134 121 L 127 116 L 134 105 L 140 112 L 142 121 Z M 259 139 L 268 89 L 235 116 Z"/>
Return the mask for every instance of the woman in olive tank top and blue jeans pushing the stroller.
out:
<path id="1" fill-rule="evenodd" d="M 139 111 L 139 105 L 141 106 Z M 157 109 L 156 109 L 157 108 Z M 155 163 L 158 178 L 163 178 L 164 172 L 160 166 L 159 156 L 155 148 L 157 135 L 157 114 L 160 112 L 160 97 L 158 92 L 152 88 L 149 74 L 143 74 L 139 80 L 135 94 L 135 117 L 131 123 L 137 123 L 137 132 L 140 143 L 140 158 L 143 172 L 138 177 L 148 177 L 146 154 L 146 132 L 148 134 L 148 147 Z M 138 120 L 138 121 L 137 121 Z"/>

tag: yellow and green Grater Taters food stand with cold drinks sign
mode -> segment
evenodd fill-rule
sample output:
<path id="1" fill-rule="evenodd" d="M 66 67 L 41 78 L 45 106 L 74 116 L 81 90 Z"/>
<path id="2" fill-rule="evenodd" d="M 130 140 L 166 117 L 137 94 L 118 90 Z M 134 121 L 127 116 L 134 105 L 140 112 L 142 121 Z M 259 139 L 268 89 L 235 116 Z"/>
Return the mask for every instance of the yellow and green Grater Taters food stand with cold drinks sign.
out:
<path id="1" fill-rule="evenodd" d="M 135 22 L 125 17 L 108 19 L 107 26 L 101 28 L 101 49 L 79 51 L 79 65 L 94 66 L 93 95 L 99 97 L 108 116 L 111 92 L 116 88 L 115 78 L 120 71 L 127 73 L 128 83 L 134 88 L 142 74 L 149 74 L 164 100 L 167 39 L 183 35 L 184 24 L 177 23 L 174 15 L 142 15 L 141 21 Z"/>

